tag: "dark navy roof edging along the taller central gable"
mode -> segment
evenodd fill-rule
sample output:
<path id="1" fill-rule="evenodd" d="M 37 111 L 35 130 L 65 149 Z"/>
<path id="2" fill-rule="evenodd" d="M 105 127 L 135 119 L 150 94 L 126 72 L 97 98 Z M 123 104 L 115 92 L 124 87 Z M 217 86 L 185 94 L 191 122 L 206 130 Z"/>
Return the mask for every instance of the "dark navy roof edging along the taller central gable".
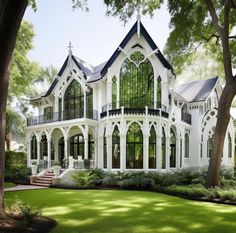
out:
<path id="1" fill-rule="evenodd" d="M 130 31 L 128 32 L 126 37 L 120 43 L 120 45 L 115 50 L 115 52 L 112 54 L 112 56 L 110 57 L 110 59 L 108 60 L 108 62 L 106 63 L 106 65 L 104 66 L 104 68 L 101 71 L 101 78 L 104 77 L 104 75 L 107 73 L 108 68 L 113 64 L 115 59 L 119 56 L 119 54 L 120 54 L 119 47 L 121 47 L 123 49 L 126 46 L 126 44 L 129 42 L 131 37 L 137 32 L 137 24 L 138 24 L 138 22 L 136 21 L 136 23 L 130 29 Z M 155 42 L 153 41 L 151 36 L 148 34 L 147 30 L 144 28 L 144 26 L 141 22 L 140 22 L 140 34 L 143 35 L 143 37 L 146 39 L 146 41 L 148 42 L 148 44 L 150 45 L 150 47 L 153 50 L 158 49 L 157 45 L 155 44 Z M 165 68 L 173 70 L 173 67 L 164 58 L 164 56 L 162 55 L 160 50 L 158 50 L 158 52 L 156 53 L 156 56 L 160 59 L 161 63 L 164 65 Z"/>

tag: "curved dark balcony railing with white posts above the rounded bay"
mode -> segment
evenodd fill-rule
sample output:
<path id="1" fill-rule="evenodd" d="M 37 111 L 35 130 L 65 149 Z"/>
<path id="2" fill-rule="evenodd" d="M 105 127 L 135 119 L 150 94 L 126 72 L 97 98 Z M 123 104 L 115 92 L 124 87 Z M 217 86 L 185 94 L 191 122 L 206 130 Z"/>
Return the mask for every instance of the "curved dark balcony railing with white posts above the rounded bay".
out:
<path id="1" fill-rule="evenodd" d="M 101 118 L 109 116 L 117 116 L 117 115 L 151 115 L 151 116 L 163 116 L 165 118 L 169 117 L 169 113 L 167 112 L 167 107 L 165 105 L 155 104 L 154 102 L 142 103 L 142 106 L 147 106 L 147 108 L 142 107 L 132 107 L 135 106 L 132 103 L 110 103 L 106 104 L 102 107 Z M 145 105 L 144 105 L 145 104 Z M 117 107 L 117 106 L 128 106 L 128 107 Z M 161 108 L 154 109 L 154 106 L 161 106 Z M 113 109 L 112 109 L 113 108 Z"/>

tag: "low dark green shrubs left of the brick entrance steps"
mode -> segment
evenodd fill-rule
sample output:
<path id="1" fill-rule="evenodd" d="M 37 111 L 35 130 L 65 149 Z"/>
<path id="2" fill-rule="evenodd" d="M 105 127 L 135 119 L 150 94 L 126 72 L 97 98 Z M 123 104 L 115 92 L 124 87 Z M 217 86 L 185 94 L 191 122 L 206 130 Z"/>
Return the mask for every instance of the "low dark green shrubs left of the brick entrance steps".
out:
<path id="1" fill-rule="evenodd" d="M 15 164 L 5 169 L 5 181 L 16 184 L 29 184 L 31 170 L 26 165 Z"/>

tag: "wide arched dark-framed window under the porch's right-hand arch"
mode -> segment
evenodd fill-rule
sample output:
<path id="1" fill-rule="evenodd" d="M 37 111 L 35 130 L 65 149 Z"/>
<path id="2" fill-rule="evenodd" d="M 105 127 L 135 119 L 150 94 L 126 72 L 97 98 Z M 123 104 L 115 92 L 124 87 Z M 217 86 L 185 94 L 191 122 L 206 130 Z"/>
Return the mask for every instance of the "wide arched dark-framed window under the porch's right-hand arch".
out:
<path id="1" fill-rule="evenodd" d="M 82 134 L 70 138 L 70 156 L 78 159 L 78 155 L 84 159 L 84 136 Z"/>

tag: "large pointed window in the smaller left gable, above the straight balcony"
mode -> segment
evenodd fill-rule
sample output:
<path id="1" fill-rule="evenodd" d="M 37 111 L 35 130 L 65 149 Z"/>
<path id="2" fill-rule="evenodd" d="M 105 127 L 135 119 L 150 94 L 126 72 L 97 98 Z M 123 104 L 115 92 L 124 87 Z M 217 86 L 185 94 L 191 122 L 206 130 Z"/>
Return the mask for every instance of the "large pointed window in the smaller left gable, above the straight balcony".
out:
<path id="1" fill-rule="evenodd" d="M 84 92 L 81 85 L 73 80 L 64 95 L 64 119 L 75 119 L 84 114 Z"/>

